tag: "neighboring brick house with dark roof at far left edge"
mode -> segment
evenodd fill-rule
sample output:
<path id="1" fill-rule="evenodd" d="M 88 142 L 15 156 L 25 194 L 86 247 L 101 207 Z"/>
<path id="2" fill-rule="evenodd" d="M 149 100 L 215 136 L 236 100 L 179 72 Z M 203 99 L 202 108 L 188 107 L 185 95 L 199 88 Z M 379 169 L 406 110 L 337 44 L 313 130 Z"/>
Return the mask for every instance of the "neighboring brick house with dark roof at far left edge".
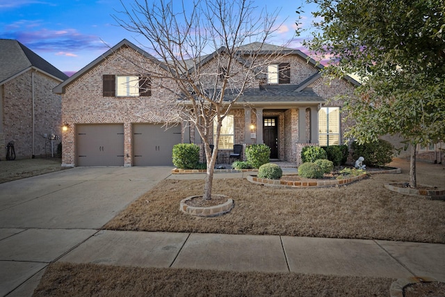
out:
<path id="1" fill-rule="evenodd" d="M 51 134 L 60 136 L 61 127 L 60 95 L 52 89 L 67 78 L 17 40 L 0 40 L 1 161 L 10 141 L 17 159 L 51 155 Z"/>

